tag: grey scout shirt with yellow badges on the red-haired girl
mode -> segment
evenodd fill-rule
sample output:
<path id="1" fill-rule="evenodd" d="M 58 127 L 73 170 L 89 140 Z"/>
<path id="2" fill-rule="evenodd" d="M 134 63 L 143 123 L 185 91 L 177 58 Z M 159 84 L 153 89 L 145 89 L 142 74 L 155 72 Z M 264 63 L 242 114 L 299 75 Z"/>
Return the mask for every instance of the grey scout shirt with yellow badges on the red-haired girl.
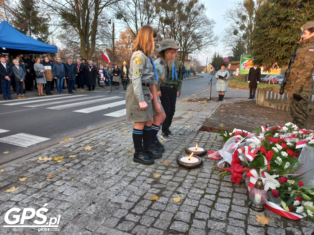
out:
<path id="1" fill-rule="evenodd" d="M 144 102 L 142 83 L 150 83 L 155 76 L 154 68 L 149 57 L 140 50 L 133 52 L 131 61 L 129 78 L 133 84 L 134 95 L 138 102 Z"/>

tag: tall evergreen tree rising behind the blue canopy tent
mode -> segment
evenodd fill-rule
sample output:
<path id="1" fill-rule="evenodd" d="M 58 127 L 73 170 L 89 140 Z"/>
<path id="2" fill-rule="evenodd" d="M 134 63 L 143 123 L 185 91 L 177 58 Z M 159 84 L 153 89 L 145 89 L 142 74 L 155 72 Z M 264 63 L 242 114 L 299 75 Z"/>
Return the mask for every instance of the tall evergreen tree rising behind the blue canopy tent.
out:
<path id="1" fill-rule="evenodd" d="M 48 18 L 40 14 L 40 7 L 34 0 L 20 0 L 14 10 L 13 26 L 21 33 L 43 42 L 48 41 Z"/>

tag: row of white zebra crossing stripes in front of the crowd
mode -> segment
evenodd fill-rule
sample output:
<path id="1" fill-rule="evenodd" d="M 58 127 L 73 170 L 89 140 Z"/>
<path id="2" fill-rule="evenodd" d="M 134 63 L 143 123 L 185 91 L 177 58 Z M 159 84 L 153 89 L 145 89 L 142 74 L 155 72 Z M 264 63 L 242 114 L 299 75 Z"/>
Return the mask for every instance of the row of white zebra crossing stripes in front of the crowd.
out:
<path id="1" fill-rule="evenodd" d="M 99 94 L 99 93 L 98 93 Z M 59 105 L 57 105 L 59 104 Z M 99 104 L 99 105 L 97 105 Z M 108 117 L 122 117 L 126 115 L 125 109 L 125 98 L 119 96 L 106 96 L 106 95 L 96 95 L 90 96 L 88 94 L 84 95 L 63 95 L 63 96 L 53 96 L 53 97 L 32 97 L 26 100 L 13 100 L 10 102 L 0 103 L 0 105 L 5 106 L 22 106 L 22 107 L 43 107 L 52 110 L 63 110 L 70 109 L 72 112 L 77 113 L 92 113 L 101 111 L 103 116 Z M 78 106 L 87 106 L 77 109 Z M 120 108 L 114 112 L 110 112 L 110 108 L 117 107 Z M 73 110 L 74 109 L 74 110 Z M 20 110 L 23 111 L 23 110 Z M 17 112 L 17 111 L 14 111 Z M 0 133 L 6 130 L 0 129 Z M 1 142 L 1 140 L 0 140 Z"/>

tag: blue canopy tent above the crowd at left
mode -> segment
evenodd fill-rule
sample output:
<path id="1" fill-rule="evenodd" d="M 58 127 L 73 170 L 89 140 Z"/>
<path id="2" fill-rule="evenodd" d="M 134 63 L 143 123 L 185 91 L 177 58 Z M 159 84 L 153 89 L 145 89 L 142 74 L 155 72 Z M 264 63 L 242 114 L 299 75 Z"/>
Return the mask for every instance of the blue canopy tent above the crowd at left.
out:
<path id="1" fill-rule="evenodd" d="M 0 52 L 8 54 L 57 53 L 57 46 L 33 39 L 14 29 L 6 21 L 0 24 Z"/>

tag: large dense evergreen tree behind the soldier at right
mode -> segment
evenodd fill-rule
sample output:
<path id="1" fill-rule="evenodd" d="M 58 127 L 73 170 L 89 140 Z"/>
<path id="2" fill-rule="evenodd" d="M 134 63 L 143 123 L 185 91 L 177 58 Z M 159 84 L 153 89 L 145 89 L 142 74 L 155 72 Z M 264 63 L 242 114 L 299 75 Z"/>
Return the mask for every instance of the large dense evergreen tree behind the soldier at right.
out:
<path id="1" fill-rule="evenodd" d="M 314 1 L 268 0 L 256 17 L 252 34 L 254 64 L 287 65 L 300 37 L 300 27 L 314 19 Z"/>

